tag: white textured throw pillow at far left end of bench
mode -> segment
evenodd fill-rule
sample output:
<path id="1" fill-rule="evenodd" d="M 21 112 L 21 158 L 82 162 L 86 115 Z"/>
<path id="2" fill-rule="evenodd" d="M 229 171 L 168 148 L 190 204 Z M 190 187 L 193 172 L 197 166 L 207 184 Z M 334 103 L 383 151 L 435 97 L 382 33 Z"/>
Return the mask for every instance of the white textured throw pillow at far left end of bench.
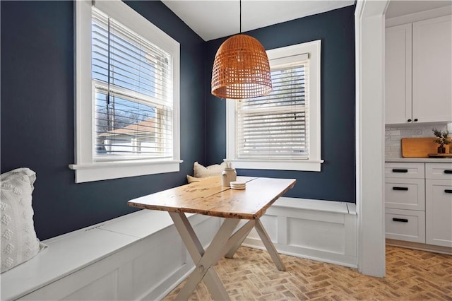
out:
<path id="1" fill-rule="evenodd" d="M 0 176 L 1 273 L 28 261 L 40 251 L 31 206 L 35 179 L 35 172 L 28 168 Z"/>

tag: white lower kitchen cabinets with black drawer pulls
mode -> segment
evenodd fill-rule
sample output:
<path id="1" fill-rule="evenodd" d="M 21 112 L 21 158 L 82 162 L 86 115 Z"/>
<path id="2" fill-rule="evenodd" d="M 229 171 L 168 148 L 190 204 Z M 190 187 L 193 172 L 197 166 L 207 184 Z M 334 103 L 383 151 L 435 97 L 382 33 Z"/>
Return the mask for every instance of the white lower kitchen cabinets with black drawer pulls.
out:
<path id="1" fill-rule="evenodd" d="M 452 248 L 452 163 L 386 163 L 385 207 L 386 238 Z"/>

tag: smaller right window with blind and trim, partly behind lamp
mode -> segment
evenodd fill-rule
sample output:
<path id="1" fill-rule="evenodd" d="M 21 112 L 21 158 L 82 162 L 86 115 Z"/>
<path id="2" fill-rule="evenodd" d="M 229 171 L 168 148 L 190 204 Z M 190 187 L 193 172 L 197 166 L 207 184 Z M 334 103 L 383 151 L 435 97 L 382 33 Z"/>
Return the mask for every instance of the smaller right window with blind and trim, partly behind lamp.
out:
<path id="1" fill-rule="evenodd" d="M 273 91 L 227 100 L 227 160 L 237 168 L 320 171 L 320 49 L 267 52 Z"/>

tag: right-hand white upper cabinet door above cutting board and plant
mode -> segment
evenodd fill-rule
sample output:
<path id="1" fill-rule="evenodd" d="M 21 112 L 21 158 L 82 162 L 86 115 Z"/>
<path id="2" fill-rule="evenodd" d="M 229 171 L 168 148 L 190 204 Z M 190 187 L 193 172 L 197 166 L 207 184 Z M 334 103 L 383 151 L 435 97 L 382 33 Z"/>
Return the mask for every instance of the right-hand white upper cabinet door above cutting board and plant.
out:
<path id="1" fill-rule="evenodd" d="M 412 23 L 412 119 L 452 121 L 452 16 Z"/>

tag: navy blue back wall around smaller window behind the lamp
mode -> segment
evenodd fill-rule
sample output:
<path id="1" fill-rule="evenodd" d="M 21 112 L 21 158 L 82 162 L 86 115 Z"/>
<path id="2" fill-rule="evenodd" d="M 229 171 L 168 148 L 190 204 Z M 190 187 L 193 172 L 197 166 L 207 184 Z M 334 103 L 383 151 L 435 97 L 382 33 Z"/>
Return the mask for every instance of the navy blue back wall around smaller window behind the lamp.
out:
<path id="1" fill-rule="evenodd" d="M 239 175 L 288 177 L 297 184 L 285 196 L 355 202 L 355 6 L 250 31 L 273 49 L 321 40 L 321 172 L 238 170 Z M 225 100 L 210 95 L 215 53 L 225 39 L 209 41 L 206 51 L 206 162 L 226 156 Z"/>

